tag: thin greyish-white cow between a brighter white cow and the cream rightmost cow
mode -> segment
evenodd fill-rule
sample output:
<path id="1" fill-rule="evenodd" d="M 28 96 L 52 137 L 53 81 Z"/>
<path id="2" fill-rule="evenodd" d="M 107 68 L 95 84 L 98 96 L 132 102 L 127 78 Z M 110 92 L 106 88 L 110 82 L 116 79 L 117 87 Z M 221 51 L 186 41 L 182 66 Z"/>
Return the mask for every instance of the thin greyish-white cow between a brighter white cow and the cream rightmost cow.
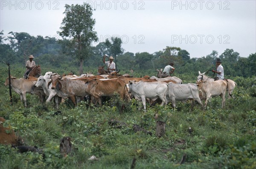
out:
<path id="1" fill-rule="evenodd" d="M 188 84 L 175 84 L 172 82 L 168 83 L 169 86 L 169 98 L 172 101 L 172 107 L 175 108 L 175 100 L 180 100 L 185 102 L 188 99 L 195 99 L 199 104 L 201 104 L 202 108 L 204 108 L 203 103 L 198 94 L 198 86 L 195 83 Z M 168 96 L 167 100 L 168 100 Z"/>

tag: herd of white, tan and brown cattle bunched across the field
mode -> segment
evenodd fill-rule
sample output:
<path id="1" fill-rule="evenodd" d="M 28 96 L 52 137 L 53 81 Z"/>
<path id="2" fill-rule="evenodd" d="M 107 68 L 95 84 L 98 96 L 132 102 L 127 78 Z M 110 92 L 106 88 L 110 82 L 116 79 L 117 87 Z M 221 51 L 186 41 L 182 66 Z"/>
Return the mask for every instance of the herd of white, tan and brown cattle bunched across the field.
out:
<path id="1" fill-rule="evenodd" d="M 63 76 L 53 72 L 46 72 L 44 76 L 32 79 L 10 79 L 12 89 L 20 94 L 20 100 L 26 104 L 26 93 L 38 95 L 41 103 L 47 98 L 49 103 L 55 99 L 56 108 L 59 103 L 67 98 L 76 106 L 81 99 L 86 98 L 95 105 L 102 106 L 103 96 L 113 96 L 117 93 L 123 100 L 135 98 L 142 101 L 144 110 L 146 101 L 150 103 L 160 99 L 161 106 L 172 102 L 172 107 L 176 107 L 176 100 L 185 102 L 186 100 L 196 100 L 204 109 L 212 96 L 221 96 L 221 108 L 225 105 L 225 94 L 232 96 L 236 83 L 233 80 L 216 80 L 207 77 L 205 73 L 199 72 L 195 83 L 183 84 L 178 77 L 158 78 L 149 77 L 129 77 L 113 72 L 109 75 L 82 74 L 81 76 Z M 9 78 L 4 83 L 9 85 Z M 203 105 L 202 99 L 206 99 Z"/>

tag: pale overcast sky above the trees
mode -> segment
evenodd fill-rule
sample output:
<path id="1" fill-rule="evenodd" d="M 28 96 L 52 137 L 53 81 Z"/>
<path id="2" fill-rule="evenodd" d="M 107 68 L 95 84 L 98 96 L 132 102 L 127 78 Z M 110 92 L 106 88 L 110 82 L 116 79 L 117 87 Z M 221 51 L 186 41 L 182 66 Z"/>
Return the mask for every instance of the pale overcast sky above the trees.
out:
<path id="1" fill-rule="evenodd" d="M 190 57 L 225 49 L 256 52 L 256 0 L 0 0 L 0 31 L 55 37 L 65 4 L 88 3 L 99 41 L 119 37 L 125 52 L 180 47 Z"/>

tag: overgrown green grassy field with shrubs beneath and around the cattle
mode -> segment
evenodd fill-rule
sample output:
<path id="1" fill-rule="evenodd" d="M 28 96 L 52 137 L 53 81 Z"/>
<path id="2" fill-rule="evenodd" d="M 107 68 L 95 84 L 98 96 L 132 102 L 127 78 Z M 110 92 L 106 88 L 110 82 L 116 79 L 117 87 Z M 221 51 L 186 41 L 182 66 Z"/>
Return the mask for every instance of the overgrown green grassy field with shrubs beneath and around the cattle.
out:
<path id="1" fill-rule="evenodd" d="M 18 153 L 11 146 L 0 145 L 1 169 L 129 169 L 136 159 L 135 169 L 255 169 L 256 168 L 256 78 L 231 77 L 237 83 L 235 99 L 213 97 L 205 111 L 196 105 L 177 102 L 152 106 L 143 111 L 137 100 L 125 102 L 114 96 L 102 108 L 81 102 L 73 107 L 70 101 L 60 105 L 41 106 L 35 95 L 27 94 L 28 107 L 14 91 L 14 104 L 9 104 L 9 88 L 3 86 L 8 76 L 0 68 L 0 117 L 26 146 L 37 146 L 43 154 Z M 21 77 L 23 70 L 12 73 Z M 196 77 L 182 78 L 195 83 Z M 124 108 L 124 109 L 123 109 Z M 166 123 L 166 134 L 156 136 L 157 120 Z M 126 125 L 112 126 L 118 120 Z M 134 132 L 138 125 L 152 133 Z M 191 128 L 191 130 L 189 129 Z M 62 137 L 71 137 L 72 152 L 63 158 L 60 153 Z M 92 155 L 98 160 L 88 160 Z M 180 164 L 182 157 L 186 160 Z"/>

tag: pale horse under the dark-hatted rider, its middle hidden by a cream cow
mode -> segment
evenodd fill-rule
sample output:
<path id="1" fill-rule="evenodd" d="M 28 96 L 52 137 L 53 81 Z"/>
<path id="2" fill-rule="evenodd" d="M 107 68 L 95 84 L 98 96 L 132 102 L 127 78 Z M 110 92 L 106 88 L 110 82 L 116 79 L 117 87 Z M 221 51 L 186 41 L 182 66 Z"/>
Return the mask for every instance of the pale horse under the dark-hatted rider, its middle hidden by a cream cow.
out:
<path id="1" fill-rule="evenodd" d="M 201 78 L 203 77 L 203 80 L 205 81 L 214 81 L 214 79 L 212 77 L 209 77 L 207 75 L 205 75 L 206 72 L 204 73 L 201 73 L 200 71 L 198 71 L 198 78 L 197 78 L 197 81 L 196 81 L 196 84 L 198 84 L 198 82 L 201 80 Z M 227 80 L 227 91 L 228 91 L 228 99 L 231 98 L 231 96 L 233 97 L 233 99 L 235 98 L 233 95 L 232 95 L 232 92 L 233 90 L 235 89 L 236 87 L 236 82 L 234 82 L 233 80 L 231 79 L 228 79 Z"/>

